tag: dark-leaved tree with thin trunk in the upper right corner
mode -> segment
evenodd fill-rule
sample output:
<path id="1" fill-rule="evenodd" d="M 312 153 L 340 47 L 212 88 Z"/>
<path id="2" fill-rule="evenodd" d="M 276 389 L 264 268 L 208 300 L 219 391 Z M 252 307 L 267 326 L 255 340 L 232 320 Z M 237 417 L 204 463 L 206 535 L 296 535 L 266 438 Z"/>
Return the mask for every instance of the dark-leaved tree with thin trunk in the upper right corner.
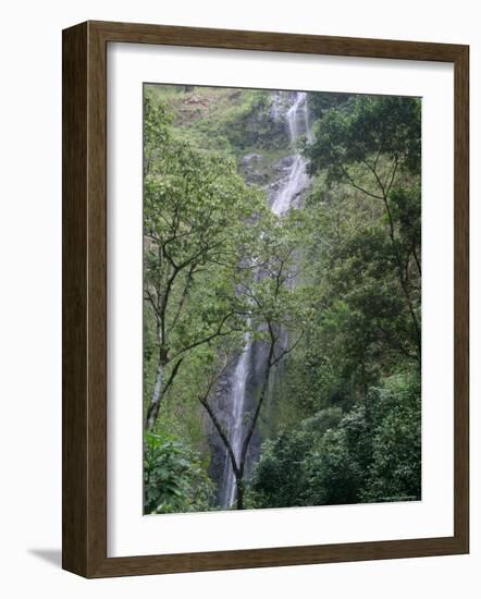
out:
<path id="1" fill-rule="evenodd" d="M 341 108 L 328 110 L 317 123 L 314 142 L 305 147 L 312 174 L 324 171 L 330 185 L 343 183 L 382 203 L 419 363 L 420 115 L 417 98 L 356 96 Z"/>

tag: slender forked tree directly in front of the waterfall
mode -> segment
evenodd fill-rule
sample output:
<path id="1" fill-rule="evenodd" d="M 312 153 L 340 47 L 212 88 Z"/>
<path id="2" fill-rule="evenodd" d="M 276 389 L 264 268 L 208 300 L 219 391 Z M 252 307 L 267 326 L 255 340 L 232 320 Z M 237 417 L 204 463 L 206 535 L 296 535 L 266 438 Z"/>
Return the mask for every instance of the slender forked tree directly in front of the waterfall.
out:
<path id="1" fill-rule="evenodd" d="M 207 389 L 199 395 L 199 402 L 219 432 L 231 460 L 236 481 L 236 506 L 244 509 L 246 456 L 256 429 L 262 406 L 266 402 L 269 381 L 275 367 L 300 342 L 307 326 L 310 308 L 306 304 L 308 294 L 301 286 L 293 284 L 298 276 L 295 268 L 295 252 L 301 216 L 289 213 L 284 218 L 273 215 L 263 221 L 262 235 L 259 237 L 257 269 L 237 269 L 236 289 L 250 327 L 250 335 L 263 343 L 266 363 L 262 381 L 251 414 L 247 416 L 247 430 L 242 443 L 240 455 L 236 456 L 230 436 L 223 430 L 212 406 L 209 395 L 222 372 L 229 365 L 229 352 L 224 354 L 221 367 L 213 369 Z M 231 354 L 232 355 L 232 354 Z"/>

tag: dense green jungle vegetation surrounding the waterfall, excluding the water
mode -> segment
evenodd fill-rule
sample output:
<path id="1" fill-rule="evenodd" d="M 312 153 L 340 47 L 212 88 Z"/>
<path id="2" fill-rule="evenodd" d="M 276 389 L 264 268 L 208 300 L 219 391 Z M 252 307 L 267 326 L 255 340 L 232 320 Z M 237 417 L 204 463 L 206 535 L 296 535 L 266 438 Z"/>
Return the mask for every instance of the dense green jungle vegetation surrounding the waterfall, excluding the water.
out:
<path id="1" fill-rule="evenodd" d="M 421 497 L 421 100 L 308 93 L 294 148 L 291 101 L 145 87 L 146 513 L 225 508 L 225 468 L 233 509 Z M 309 183 L 276 215 L 293 152 Z"/>

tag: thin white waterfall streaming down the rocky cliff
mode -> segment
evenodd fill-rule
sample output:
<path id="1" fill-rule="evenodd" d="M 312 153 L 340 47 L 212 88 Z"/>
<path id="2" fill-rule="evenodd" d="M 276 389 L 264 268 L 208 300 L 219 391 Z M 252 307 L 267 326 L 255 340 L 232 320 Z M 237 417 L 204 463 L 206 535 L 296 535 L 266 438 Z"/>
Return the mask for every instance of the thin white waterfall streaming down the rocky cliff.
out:
<path id="1" fill-rule="evenodd" d="M 280 181 L 278 190 L 270 198 L 271 210 L 278 216 L 287 212 L 295 205 L 297 198 L 309 183 L 309 179 L 306 173 L 306 159 L 298 152 L 296 148 L 296 140 L 301 135 L 306 135 L 309 139 L 311 138 L 306 91 L 281 91 L 280 94 L 287 95 L 289 100 L 289 107 L 283 113 L 283 118 L 285 119 L 291 148 L 294 150 L 294 155 L 292 156 L 292 161 L 286 169 L 286 174 L 284 174 Z M 287 343 L 286 334 L 283 335 L 282 342 Z M 239 463 L 244 441 L 244 419 L 246 407 L 248 407 L 247 382 L 254 366 L 252 347 L 254 343 L 250 337 L 246 335 L 243 353 L 237 359 L 231 379 L 232 391 L 230 395 L 229 431 L 232 450 L 236 457 L 237 464 Z M 235 490 L 235 476 L 229 452 L 225 451 L 220 492 L 220 503 L 222 506 L 231 508 L 234 504 Z"/>

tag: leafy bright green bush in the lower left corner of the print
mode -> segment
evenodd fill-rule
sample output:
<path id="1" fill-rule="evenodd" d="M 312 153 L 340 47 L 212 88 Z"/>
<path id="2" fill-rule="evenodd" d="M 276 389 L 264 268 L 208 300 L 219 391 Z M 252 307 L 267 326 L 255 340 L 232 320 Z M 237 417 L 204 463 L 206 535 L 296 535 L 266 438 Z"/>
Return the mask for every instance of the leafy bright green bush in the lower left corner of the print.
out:
<path id="1" fill-rule="evenodd" d="M 198 454 L 171 436 L 147 432 L 144 449 L 146 514 L 211 509 L 213 486 Z"/>

